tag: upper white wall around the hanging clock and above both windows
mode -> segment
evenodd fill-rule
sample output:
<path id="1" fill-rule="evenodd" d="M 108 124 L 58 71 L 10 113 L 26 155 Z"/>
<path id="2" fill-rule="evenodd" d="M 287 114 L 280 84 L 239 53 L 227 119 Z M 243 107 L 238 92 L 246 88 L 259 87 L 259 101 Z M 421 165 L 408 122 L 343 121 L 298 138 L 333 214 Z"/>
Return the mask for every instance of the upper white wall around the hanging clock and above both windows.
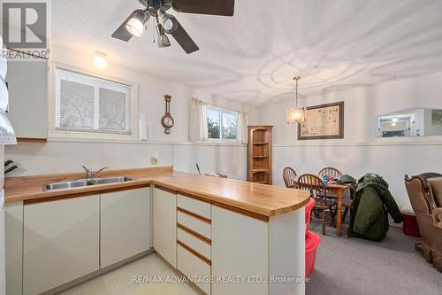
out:
<path id="1" fill-rule="evenodd" d="M 156 142 L 187 142 L 189 140 L 189 101 L 191 97 L 202 99 L 209 104 L 230 108 L 235 111 L 248 112 L 251 120 L 255 120 L 256 109 L 248 105 L 212 97 L 201 89 L 192 89 L 170 80 L 121 66 L 109 61 L 105 71 L 100 71 L 92 66 L 93 52 L 84 53 L 68 50 L 62 47 L 54 47 L 51 51 L 51 63 L 59 63 L 68 66 L 79 67 L 91 73 L 96 73 L 110 78 L 122 79 L 124 81 L 138 84 L 139 113 L 147 116 L 151 124 L 151 134 Z M 166 135 L 160 123 L 164 116 L 164 95 L 171 95 L 171 115 L 175 124 L 171 128 L 171 134 Z"/>

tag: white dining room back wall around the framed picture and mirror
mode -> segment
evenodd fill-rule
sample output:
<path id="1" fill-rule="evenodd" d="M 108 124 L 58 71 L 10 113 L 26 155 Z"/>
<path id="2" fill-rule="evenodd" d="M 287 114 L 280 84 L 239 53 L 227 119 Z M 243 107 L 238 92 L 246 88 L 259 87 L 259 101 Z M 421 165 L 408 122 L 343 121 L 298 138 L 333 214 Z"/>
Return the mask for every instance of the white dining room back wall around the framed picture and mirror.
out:
<path id="1" fill-rule="evenodd" d="M 275 126 L 275 184 L 284 184 L 286 166 L 314 174 L 322 167 L 337 167 L 355 178 L 374 172 L 390 183 L 398 205 L 409 207 L 404 175 L 441 172 L 442 137 L 375 138 L 376 117 L 415 107 L 440 108 L 440 93 L 442 73 L 303 98 L 301 105 L 345 101 L 345 138 L 333 140 L 297 141 L 295 126 L 286 124 L 286 109 L 292 101 L 260 107 L 260 123 Z"/>

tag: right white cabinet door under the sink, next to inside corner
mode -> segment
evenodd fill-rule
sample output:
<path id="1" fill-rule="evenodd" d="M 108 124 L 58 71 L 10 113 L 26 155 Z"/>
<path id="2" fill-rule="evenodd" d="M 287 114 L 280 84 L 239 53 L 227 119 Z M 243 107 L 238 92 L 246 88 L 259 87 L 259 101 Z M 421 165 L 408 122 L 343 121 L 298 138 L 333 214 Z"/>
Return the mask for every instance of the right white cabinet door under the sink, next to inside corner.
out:
<path id="1" fill-rule="evenodd" d="M 103 194 L 101 198 L 101 268 L 148 251 L 150 188 Z"/>

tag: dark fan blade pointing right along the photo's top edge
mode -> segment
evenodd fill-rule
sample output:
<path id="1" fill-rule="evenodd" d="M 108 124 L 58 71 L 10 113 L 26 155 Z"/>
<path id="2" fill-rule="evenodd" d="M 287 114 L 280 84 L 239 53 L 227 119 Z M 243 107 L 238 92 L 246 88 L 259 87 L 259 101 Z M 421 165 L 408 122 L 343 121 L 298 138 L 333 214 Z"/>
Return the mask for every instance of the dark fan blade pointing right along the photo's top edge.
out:
<path id="1" fill-rule="evenodd" d="M 177 12 L 233 16 L 235 0 L 172 0 Z"/>

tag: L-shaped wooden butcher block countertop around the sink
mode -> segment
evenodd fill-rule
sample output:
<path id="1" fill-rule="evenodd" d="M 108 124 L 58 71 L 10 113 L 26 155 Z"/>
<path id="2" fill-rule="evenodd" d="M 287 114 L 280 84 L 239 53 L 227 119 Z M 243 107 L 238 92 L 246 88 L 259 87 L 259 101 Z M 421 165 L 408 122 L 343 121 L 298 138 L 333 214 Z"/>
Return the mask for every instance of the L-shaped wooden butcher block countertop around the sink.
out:
<path id="1" fill-rule="evenodd" d="M 43 191 L 44 184 L 73 181 L 84 173 L 63 175 L 33 175 L 6 177 L 4 183 L 6 203 L 33 202 L 45 198 L 72 198 L 103 194 L 117 190 L 148 187 L 154 184 L 183 195 L 200 198 L 218 206 L 245 210 L 263 216 L 288 213 L 305 206 L 309 193 L 254 182 L 193 175 L 173 171 L 172 167 L 153 167 L 102 172 L 97 177 L 128 176 L 132 181 L 91 185 L 65 190 Z"/>

